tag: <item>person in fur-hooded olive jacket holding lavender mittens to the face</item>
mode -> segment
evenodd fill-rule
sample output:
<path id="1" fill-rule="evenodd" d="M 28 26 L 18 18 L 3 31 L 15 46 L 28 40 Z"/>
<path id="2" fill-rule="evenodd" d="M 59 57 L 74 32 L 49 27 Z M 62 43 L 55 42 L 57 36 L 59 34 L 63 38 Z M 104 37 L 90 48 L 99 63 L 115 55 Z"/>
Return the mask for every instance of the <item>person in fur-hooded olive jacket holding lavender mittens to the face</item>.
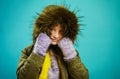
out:
<path id="1" fill-rule="evenodd" d="M 74 12 L 48 5 L 36 19 L 33 44 L 22 51 L 18 79 L 88 79 L 73 44 L 79 30 Z"/>

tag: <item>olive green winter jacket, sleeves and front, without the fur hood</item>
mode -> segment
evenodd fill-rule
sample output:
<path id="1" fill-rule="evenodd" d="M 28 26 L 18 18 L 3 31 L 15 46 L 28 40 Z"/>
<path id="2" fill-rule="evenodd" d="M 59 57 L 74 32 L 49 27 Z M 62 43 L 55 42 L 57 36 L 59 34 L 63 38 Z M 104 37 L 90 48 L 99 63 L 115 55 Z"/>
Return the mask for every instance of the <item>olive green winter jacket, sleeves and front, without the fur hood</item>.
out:
<path id="1" fill-rule="evenodd" d="M 18 79 L 39 79 L 44 57 L 38 56 L 32 50 L 33 45 L 26 47 L 22 51 L 16 71 Z M 60 67 L 60 79 L 88 79 L 88 70 L 81 62 L 79 56 L 69 62 L 64 61 L 62 56 L 58 56 L 62 64 Z"/>

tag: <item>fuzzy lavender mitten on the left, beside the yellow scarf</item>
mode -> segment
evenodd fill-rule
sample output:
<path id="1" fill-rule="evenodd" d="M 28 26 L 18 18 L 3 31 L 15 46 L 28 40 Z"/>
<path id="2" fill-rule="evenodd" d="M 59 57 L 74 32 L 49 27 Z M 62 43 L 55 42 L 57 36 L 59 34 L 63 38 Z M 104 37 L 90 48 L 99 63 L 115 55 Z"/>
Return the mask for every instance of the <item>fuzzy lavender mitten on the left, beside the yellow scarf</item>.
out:
<path id="1" fill-rule="evenodd" d="M 45 56 L 46 51 L 51 44 L 51 39 L 44 33 L 40 33 L 34 45 L 33 52 Z"/>

